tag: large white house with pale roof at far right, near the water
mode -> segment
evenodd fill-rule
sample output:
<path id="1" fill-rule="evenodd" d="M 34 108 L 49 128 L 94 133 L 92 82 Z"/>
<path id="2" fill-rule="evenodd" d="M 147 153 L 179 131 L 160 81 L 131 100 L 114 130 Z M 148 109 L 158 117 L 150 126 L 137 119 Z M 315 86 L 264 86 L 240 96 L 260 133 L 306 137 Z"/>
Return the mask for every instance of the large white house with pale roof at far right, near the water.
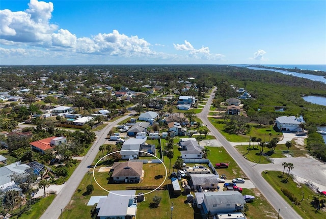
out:
<path id="1" fill-rule="evenodd" d="M 275 120 L 277 128 L 281 131 L 302 131 L 301 123 L 305 123 L 302 116 L 297 118 L 295 116 L 281 116 Z"/>

